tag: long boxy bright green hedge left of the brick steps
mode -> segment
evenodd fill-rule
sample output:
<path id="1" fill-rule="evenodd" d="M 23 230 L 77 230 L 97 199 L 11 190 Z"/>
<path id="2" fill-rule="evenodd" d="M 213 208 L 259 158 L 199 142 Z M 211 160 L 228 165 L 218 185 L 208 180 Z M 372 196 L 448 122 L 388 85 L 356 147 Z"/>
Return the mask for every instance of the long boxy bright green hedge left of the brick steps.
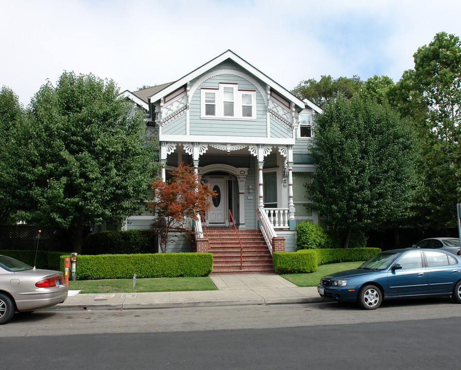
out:
<path id="1" fill-rule="evenodd" d="M 64 258 L 61 257 L 61 271 Z M 207 276 L 213 270 L 211 253 L 154 253 L 78 255 L 76 280 L 174 278 Z"/>

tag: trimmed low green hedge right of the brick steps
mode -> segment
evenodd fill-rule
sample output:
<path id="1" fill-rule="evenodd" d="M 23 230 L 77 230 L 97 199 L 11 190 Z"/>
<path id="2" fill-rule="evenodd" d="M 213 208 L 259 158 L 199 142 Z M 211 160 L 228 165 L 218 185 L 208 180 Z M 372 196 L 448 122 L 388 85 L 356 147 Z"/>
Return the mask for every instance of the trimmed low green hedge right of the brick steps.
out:
<path id="1" fill-rule="evenodd" d="M 323 248 L 274 252 L 274 271 L 277 274 L 315 272 L 320 265 L 366 261 L 379 252 L 379 248 Z"/>

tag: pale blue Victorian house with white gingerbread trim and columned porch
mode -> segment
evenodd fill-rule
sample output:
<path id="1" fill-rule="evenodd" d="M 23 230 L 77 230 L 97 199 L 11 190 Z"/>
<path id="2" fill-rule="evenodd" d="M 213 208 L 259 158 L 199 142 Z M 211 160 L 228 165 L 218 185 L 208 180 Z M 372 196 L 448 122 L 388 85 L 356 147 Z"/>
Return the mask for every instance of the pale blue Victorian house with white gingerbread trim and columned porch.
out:
<path id="1" fill-rule="evenodd" d="M 230 50 L 175 82 L 122 94 L 133 109 L 149 115 L 162 177 L 190 163 L 218 193 L 204 222 L 191 225 L 198 250 L 209 248 L 208 233 L 235 224 L 241 235 L 263 237 L 270 253 L 294 251 L 296 223 L 318 222 L 305 207 L 304 184 L 314 171 L 312 116 L 321 112 L 312 102 L 298 99 Z M 150 220 L 149 214 L 129 217 L 125 229 L 147 229 Z M 221 241 L 227 237 L 220 235 Z M 169 251 L 190 248 L 183 241 Z"/>

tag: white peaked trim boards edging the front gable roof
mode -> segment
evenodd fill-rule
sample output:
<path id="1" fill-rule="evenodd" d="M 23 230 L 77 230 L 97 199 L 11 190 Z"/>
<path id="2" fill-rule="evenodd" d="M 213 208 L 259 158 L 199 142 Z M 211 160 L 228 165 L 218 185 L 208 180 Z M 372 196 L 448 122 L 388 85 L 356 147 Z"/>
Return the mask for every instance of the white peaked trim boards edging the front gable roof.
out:
<path id="1" fill-rule="evenodd" d="M 295 95 L 290 93 L 289 90 L 286 88 L 280 86 L 278 83 L 276 83 L 274 80 L 270 79 L 268 76 L 264 75 L 259 69 L 253 67 L 250 63 L 246 62 L 242 58 L 240 58 L 236 53 L 234 53 L 231 50 L 227 50 L 223 52 L 221 55 L 218 55 L 215 59 L 210 60 L 208 63 L 205 63 L 201 67 L 194 69 L 192 72 L 188 73 L 186 76 L 180 78 L 179 80 L 171 83 L 161 91 L 157 91 L 156 93 L 153 93 L 150 97 L 149 100 L 152 102 L 155 102 L 166 95 L 172 93 L 176 89 L 180 88 L 181 86 L 185 85 L 187 82 L 193 80 L 194 78 L 197 78 L 209 69 L 217 66 L 218 64 L 224 62 L 225 60 L 230 59 L 240 65 L 242 68 L 246 69 L 250 73 L 252 73 L 254 76 L 256 76 L 259 80 L 263 81 L 264 83 L 268 84 L 272 88 L 274 88 L 277 93 L 281 94 L 284 98 L 286 98 L 289 101 L 292 101 L 299 107 L 305 106 L 305 102 L 299 98 L 297 98 Z M 313 103 L 312 103 L 313 104 Z"/>

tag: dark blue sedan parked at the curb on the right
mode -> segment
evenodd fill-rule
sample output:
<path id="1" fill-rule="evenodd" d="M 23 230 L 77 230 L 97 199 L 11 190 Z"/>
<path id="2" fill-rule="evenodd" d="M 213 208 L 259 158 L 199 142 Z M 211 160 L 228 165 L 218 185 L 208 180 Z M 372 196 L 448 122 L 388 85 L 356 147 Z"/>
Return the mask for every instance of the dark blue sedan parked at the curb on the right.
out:
<path id="1" fill-rule="evenodd" d="M 324 276 L 318 293 L 338 302 L 378 308 L 383 299 L 450 296 L 461 303 L 461 258 L 434 249 L 395 249 L 354 270 Z"/>

